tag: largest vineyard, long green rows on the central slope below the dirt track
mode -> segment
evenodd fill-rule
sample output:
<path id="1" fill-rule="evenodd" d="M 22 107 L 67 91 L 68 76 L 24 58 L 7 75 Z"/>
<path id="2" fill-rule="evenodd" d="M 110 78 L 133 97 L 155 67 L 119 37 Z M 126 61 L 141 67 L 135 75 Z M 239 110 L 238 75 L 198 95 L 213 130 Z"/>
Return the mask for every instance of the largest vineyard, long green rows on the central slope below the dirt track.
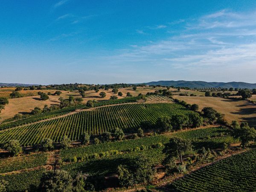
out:
<path id="1" fill-rule="evenodd" d="M 59 142 L 64 135 L 79 140 L 82 133 L 102 134 L 119 127 L 133 131 L 143 120 L 155 122 L 160 116 L 193 113 L 182 105 L 173 103 L 124 104 L 94 108 L 58 119 L 0 131 L 0 143 L 16 139 L 21 145 L 38 144 L 44 138 Z"/>

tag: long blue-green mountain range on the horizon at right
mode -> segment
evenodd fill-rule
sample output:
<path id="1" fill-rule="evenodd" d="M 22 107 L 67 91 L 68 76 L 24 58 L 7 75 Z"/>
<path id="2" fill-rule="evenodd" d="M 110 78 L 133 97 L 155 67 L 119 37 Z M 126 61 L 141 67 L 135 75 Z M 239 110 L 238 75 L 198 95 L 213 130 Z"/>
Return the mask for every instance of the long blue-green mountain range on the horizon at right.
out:
<path id="1" fill-rule="evenodd" d="M 221 88 L 247 88 L 256 89 L 256 83 L 244 83 L 244 82 L 206 82 L 206 81 L 151 81 L 145 83 L 148 85 L 165 85 L 175 87 L 190 87 L 190 88 L 204 88 L 204 87 L 221 87 Z"/>

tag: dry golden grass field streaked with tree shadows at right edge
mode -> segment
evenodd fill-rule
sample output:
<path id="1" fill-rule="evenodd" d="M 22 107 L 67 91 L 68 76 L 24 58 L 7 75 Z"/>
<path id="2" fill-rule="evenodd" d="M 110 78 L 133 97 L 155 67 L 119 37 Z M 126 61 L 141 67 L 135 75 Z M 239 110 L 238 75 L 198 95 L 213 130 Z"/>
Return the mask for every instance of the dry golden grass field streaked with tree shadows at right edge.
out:
<path id="1" fill-rule="evenodd" d="M 189 104 L 196 103 L 200 110 L 204 107 L 212 107 L 225 114 L 228 122 L 232 120 L 247 121 L 250 126 L 256 128 L 256 105 L 250 102 L 219 97 L 174 96 L 174 98 L 186 101 Z"/>

